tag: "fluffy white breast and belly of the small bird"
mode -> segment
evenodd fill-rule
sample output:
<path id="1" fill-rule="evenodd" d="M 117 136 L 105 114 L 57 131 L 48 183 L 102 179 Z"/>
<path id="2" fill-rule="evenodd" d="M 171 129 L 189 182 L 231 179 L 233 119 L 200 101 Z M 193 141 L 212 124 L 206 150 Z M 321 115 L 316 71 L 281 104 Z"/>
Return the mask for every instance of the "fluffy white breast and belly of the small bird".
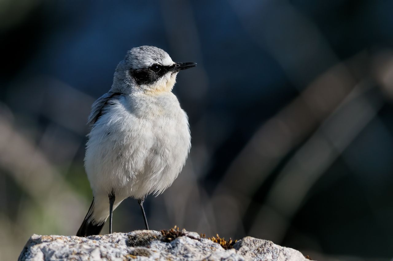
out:
<path id="1" fill-rule="evenodd" d="M 191 147 L 187 115 L 171 92 L 122 96 L 94 124 L 85 167 L 93 193 L 143 198 L 178 176 Z"/>

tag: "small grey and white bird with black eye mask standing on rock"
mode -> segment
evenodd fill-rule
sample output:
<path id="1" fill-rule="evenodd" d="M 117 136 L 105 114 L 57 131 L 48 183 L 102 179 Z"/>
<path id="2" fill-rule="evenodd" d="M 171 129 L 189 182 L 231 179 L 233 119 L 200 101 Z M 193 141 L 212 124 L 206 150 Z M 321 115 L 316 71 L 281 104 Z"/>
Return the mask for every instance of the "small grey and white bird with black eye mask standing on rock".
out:
<path id="1" fill-rule="evenodd" d="M 143 201 L 161 194 L 181 172 L 191 136 L 187 114 L 172 93 L 180 70 L 196 63 L 176 63 L 160 48 L 140 46 L 127 52 L 110 90 L 96 100 L 84 165 L 93 202 L 77 236 L 97 235 L 126 198 Z"/>

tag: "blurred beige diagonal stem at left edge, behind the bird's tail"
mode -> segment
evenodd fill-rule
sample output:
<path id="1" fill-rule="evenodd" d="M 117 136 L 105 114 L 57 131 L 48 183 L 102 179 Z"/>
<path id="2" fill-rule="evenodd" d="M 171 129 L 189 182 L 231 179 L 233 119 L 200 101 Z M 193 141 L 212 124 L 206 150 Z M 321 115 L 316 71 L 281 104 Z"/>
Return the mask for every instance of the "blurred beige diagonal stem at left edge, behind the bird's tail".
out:
<path id="1" fill-rule="evenodd" d="M 72 190 L 40 149 L 25 138 L 5 115 L 2 109 L 0 111 L 0 133 L 2 134 L 0 135 L 0 166 L 7 170 L 11 178 L 40 207 L 43 214 L 42 230 L 34 230 L 36 227 L 28 225 L 32 223 L 31 213 L 26 210 L 28 205 L 22 202 L 21 213 L 17 215 L 18 219 L 11 223 L 14 228 L 23 227 L 24 236 L 22 237 L 25 237 L 25 240 L 33 233 L 52 233 L 48 222 L 64 231 L 65 234 L 74 234 L 74 230 L 86 212 L 87 202 Z M 2 236 L 7 235 L 2 234 Z M 20 243 L 18 242 L 17 245 Z"/>

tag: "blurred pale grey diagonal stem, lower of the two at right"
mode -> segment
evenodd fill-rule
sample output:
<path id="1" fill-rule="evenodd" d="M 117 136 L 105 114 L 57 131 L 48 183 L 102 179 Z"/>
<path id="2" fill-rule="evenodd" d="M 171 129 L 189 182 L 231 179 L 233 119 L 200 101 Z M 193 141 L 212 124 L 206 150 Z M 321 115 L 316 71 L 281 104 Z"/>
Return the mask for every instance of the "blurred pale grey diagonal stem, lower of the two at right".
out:
<path id="1" fill-rule="evenodd" d="M 367 80 L 358 84 L 286 163 L 272 185 L 266 203 L 261 206 L 251 231 L 260 231 L 264 238 L 276 242 L 283 239 L 288 221 L 301 207 L 312 185 L 373 120 L 382 106 L 382 99 L 371 102 L 367 98 L 366 91 L 370 88 L 373 85 Z"/>

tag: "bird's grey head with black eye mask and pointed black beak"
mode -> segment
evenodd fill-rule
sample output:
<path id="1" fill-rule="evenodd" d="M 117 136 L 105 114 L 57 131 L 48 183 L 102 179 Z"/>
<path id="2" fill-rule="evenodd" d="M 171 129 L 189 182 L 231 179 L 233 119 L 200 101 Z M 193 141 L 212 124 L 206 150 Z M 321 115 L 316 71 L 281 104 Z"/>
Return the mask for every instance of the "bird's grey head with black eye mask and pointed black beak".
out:
<path id="1" fill-rule="evenodd" d="M 154 46 L 135 47 L 127 52 L 116 68 L 113 87 L 125 93 L 168 92 L 176 82 L 177 73 L 195 65 L 196 63 L 173 62 L 169 54 Z"/>

